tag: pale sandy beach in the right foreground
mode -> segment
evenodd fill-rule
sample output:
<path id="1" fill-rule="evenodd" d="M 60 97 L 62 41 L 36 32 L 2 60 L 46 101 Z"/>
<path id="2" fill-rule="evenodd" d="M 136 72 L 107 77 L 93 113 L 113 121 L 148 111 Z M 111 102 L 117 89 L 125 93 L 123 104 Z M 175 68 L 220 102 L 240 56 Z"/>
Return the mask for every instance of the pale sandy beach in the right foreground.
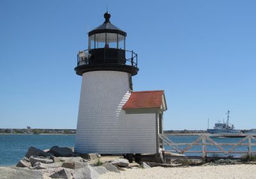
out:
<path id="1" fill-rule="evenodd" d="M 100 175 L 99 179 L 106 178 L 256 178 L 256 165 L 237 164 L 237 165 L 219 165 L 219 166 L 193 166 L 193 167 L 152 167 L 149 169 L 128 169 L 121 173 L 109 172 Z"/>

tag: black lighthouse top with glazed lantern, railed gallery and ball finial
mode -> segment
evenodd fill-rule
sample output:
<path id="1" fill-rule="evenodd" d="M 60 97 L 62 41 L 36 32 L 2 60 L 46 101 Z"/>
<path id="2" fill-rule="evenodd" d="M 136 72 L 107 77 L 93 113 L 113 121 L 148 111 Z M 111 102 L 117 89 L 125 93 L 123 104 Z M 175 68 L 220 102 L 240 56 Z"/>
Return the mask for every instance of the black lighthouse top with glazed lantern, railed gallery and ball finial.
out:
<path id="1" fill-rule="evenodd" d="M 110 17 L 104 13 L 105 22 L 88 33 L 88 50 L 77 54 L 77 75 L 99 70 L 138 73 L 138 56 L 125 49 L 127 34 L 111 24 Z"/>

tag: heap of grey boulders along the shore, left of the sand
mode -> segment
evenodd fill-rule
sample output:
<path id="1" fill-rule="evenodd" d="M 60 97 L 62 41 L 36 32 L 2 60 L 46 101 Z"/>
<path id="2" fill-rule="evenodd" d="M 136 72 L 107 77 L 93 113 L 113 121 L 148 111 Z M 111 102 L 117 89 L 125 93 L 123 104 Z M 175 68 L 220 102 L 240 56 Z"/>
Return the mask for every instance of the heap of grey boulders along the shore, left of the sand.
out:
<path id="1" fill-rule="evenodd" d="M 129 160 L 118 157 L 104 157 L 97 153 L 74 153 L 72 148 L 52 146 L 49 150 L 40 150 L 33 146 L 15 167 L 0 167 L 0 179 L 19 178 L 99 178 L 108 173 L 120 173 L 125 168 L 148 168 L 148 164 L 130 164 Z"/>

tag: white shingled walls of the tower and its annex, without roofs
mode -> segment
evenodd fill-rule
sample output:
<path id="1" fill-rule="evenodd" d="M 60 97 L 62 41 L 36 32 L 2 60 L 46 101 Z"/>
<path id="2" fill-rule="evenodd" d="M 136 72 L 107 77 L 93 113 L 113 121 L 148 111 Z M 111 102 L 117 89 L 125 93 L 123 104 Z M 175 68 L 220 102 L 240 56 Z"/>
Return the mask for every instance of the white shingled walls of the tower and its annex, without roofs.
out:
<path id="1" fill-rule="evenodd" d="M 155 153 L 156 114 L 126 114 L 129 74 L 83 74 L 75 150 L 79 153 Z"/>

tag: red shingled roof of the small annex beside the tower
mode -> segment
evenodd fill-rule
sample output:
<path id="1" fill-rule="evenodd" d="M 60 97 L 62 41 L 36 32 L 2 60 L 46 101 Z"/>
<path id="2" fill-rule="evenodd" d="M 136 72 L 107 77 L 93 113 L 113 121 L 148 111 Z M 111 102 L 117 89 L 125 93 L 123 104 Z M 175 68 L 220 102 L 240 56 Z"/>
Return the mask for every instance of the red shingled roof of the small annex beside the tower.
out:
<path id="1" fill-rule="evenodd" d="M 133 91 L 123 109 L 161 107 L 164 91 Z"/>

